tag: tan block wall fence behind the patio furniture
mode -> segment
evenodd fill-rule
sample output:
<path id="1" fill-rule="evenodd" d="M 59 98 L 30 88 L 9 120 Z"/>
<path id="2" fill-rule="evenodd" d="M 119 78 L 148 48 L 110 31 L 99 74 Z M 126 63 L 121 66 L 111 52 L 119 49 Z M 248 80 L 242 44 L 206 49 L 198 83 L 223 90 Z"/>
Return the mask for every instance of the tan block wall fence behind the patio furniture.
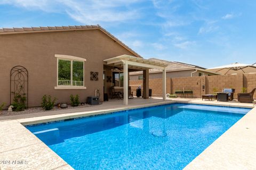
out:
<path id="1" fill-rule="evenodd" d="M 136 89 L 139 86 L 142 88 L 142 80 L 130 80 L 130 86 L 135 96 Z M 237 94 L 242 92 L 243 87 L 247 89 L 247 92 L 256 88 L 256 73 L 166 78 L 167 94 L 174 94 L 175 90 L 193 90 L 194 97 L 201 97 L 205 94 L 213 94 L 214 88 L 218 91 L 233 88 L 235 89 L 234 97 L 237 98 Z M 149 88 L 152 89 L 152 96 L 161 97 L 162 79 L 149 79 Z M 254 98 L 256 98 L 256 93 Z"/>

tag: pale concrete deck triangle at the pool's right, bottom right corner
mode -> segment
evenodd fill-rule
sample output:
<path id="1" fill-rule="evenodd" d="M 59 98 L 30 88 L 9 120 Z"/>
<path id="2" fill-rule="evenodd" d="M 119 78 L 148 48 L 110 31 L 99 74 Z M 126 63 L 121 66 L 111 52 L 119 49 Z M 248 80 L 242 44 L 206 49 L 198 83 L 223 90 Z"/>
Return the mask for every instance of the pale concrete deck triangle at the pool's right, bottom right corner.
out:
<path id="1" fill-rule="evenodd" d="M 184 169 L 255 169 L 256 107 L 231 126 Z"/>

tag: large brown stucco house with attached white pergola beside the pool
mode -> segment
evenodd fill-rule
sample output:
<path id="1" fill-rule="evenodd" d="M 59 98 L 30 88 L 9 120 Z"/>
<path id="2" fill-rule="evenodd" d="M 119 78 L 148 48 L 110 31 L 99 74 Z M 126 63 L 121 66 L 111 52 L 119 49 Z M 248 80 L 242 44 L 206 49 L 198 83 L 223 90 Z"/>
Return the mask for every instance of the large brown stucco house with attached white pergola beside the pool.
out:
<path id="1" fill-rule="evenodd" d="M 111 86 L 123 89 L 128 104 L 129 72 L 143 71 L 148 89 L 148 70 L 165 75 L 166 67 L 143 59 L 99 25 L 0 29 L 0 59 L 0 103 L 24 93 L 30 107 L 40 106 L 43 95 L 68 103 L 73 94 L 85 102 L 95 90 L 103 101 Z"/>

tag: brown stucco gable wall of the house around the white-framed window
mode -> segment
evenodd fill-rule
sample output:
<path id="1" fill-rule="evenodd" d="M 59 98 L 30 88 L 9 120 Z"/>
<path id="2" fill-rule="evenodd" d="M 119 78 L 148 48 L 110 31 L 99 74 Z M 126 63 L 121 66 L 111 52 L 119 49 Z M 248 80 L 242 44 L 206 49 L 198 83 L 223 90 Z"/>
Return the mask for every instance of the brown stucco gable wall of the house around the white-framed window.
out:
<path id="1" fill-rule="evenodd" d="M 86 90 L 54 90 L 57 85 L 55 54 L 86 58 L 84 79 Z M 118 55 L 133 55 L 100 30 L 78 30 L 0 35 L 0 103 L 10 102 L 10 70 L 26 67 L 29 74 L 29 106 L 41 105 L 44 94 L 68 102 L 70 94 L 81 101 L 100 89 L 103 99 L 103 60 Z M 99 72 L 99 81 L 90 80 L 90 72 Z"/>

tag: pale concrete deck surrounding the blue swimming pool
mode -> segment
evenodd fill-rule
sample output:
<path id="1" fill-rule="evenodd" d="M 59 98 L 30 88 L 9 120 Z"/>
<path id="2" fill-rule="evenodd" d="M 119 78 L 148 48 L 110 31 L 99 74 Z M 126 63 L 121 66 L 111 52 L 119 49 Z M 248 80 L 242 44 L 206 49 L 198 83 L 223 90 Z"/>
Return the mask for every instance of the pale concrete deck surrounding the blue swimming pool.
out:
<path id="1" fill-rule="evenodd" d="M 0 161 L 2 161 L 0 169 L 73 169 L 23 125 L 107 114 L 169 103 L 254 107 L 254 104 L 183 98 L 166 101 L 157 98 L 146 100 L 134 98 L 129 100 L 129 103 L 129 105 L 124 106 L 122 105 L 123 100 L 112 100 L 93 107 L 0 117 L 2 118 L 0 121 Z M 188 164 L 185 169 L 253 169 L 256 167 L 255 122 L 256 108 L 253 108 Z M 3 163 L 3 161 L 5 162 Z"/>

